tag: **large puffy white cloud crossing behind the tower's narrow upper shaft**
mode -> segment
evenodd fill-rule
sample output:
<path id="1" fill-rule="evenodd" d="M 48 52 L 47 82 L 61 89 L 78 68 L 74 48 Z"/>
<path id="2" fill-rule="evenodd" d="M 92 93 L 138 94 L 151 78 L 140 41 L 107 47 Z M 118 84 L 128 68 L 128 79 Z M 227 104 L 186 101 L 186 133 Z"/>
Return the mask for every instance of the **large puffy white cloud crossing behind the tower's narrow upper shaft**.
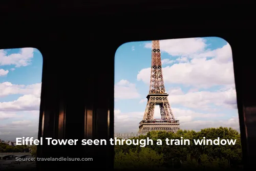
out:
<path id="1" fill-rule="evenodd" d="M 186 44 L 180 46 L 183 48 L 178 49 L 184 49 Z M 202 47 L 204 48 L 205 46 Z M 172 50 L 169 53 L 175 52 Z M 177 54 L 180 54 L 180 52 L 177 52 Z M 163 68 L 165 83 L 180 83 L 197 88 L 210 88 L 234 83 L 232 52 L 229 44 L 213 51 L 202 51 L 202 49 L 198 48 L 195 52 L 188 50 L 185 54 L 192 58 L 189 62 L 175 63 L 172 66 Z M 207 60 L 206 57 L 214 58 Z M 137 75 L 137 80 L 142 80 L 149 84 L 150 72 L 151 68 L 142 69 Z"/>

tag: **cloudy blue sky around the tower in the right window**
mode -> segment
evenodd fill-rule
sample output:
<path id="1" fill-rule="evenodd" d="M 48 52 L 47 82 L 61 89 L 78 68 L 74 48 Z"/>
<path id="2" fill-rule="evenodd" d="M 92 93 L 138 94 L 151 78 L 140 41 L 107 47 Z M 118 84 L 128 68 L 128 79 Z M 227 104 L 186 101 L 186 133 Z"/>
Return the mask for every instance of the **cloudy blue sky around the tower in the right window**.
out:
<path id="1" fill-rule="evenodd" d="M 232 51 L 219 37 L 160 40 L 165 88 L 181 129 L 239 129 Z M 138 131 L 149 91 L 151 41 L 127 42 L 115 54 L 115 132 Z M 155 118 L 160 118 L 156 106 Z"/>

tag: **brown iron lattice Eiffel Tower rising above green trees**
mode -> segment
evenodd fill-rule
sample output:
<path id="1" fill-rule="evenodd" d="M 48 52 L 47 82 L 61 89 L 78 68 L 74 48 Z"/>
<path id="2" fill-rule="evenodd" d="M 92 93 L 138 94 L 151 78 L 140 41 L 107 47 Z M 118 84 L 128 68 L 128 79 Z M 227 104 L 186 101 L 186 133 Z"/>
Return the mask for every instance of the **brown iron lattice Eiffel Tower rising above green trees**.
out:
<path id="1" fill-rule="evenodd" d="M 150 131 L 166 131 L 176 133 L 180 129 L 175 120 L 165 92 L 159 40 L 152 41 L 152 64 L 150 92 L 146 96 L 147 104 L 143 120 L 139 123 L 139 132 L 145 134 Z M 155 105 L 160 106 L 161 119 L 154 119 Z"/>

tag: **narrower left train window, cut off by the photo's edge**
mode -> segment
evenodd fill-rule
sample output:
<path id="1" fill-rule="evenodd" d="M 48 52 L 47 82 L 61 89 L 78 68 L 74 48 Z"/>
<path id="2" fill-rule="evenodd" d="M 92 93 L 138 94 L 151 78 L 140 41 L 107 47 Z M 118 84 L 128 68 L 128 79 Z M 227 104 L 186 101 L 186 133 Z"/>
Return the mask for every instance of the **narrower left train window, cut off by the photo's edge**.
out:
<path id="1" fill-rule="evenodd" d="M 34 48 L 0 50 L 0 170 L 35 167 L 42 55 Z"/>

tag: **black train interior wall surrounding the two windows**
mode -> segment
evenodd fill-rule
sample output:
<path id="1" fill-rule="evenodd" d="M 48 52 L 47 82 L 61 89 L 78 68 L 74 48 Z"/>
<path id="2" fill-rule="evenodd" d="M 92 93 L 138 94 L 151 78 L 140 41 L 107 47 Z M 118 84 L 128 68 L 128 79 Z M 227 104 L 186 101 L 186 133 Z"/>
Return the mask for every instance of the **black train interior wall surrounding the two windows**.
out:
<path id="1" fill-rule="evenodd" d="M 113 137 L 114 55 L 124 42 L 218 36 L 232 48 L 245 163 L 255 159 L 256 72 L 248 62 L 254 55 L 253 6 L 249 1 L 169 3 L 1 2 L 0 49 L 33 47 L 44 57 L 39 136 Z M 109 145 L 42 145 L 38 165 L 66 168 L 73 160 L 76 167 L 105 168 L 113 167 L 113 157 Z"/>

